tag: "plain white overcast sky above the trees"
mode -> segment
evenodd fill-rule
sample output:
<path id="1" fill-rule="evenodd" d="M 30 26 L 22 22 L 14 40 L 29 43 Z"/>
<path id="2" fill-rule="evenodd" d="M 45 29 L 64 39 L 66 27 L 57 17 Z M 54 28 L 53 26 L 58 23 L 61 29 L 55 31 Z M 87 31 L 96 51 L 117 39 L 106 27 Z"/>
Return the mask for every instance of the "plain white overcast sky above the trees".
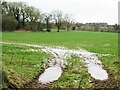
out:
<path id="1" fill-rule="evenodd" d="M 118 23 L 118 1 L 120 0 L 5 0 L 26 2 L 42 12 L 61 10 L 71 14 L 76 22 Z"/>

